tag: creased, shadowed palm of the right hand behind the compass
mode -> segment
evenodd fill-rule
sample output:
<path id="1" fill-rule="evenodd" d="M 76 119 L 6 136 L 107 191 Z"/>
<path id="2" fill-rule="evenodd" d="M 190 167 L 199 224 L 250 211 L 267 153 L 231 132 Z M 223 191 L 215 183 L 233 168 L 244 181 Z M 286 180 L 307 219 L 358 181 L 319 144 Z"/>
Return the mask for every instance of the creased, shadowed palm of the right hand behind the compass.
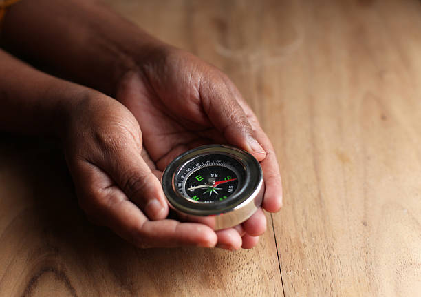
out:
<path id="1" fill-rule="evenodd" d="M 176 94 L 166 90 L 158 94 L 140 75 L 133 73 L 118 96 L 138 120 L 144 150 L 160 171 L 188 149 L 207 143 L 226 143 L 202 110 L 198 94 L 189 92 L 194 87 L 178 88 L 183 87 Z"/>

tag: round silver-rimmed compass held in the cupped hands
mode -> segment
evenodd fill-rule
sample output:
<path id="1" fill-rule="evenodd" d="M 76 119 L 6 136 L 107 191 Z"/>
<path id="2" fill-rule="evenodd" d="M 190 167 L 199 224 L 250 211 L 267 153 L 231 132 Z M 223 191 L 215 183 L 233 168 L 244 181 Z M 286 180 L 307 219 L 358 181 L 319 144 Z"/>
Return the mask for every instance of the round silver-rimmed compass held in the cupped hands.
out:
<path id="1" fill-rule="evenodd" d="M 162 175 L 169 205 L 190 216 L 214 216 L 215 230 L 246 221 L 261 205 L 263 172 L 248 152 L 204 145 L 177 156 Z"/>

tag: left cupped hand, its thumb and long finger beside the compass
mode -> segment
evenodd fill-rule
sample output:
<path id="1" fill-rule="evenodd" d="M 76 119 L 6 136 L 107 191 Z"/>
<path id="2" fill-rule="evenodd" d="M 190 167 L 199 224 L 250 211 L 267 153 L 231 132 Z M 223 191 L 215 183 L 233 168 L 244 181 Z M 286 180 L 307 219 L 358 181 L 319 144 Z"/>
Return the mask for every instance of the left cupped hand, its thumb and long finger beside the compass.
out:
<path id="1" fill-rule="evenodd" d="M 214 247 L 217 235 L 202 223 L 165 219 L 168 205 L 142 150 L 138 121 L 121 103 L 87 92 L 69 108 L 63 145 L 80 207 L 100 225 L 138 247 Z"/>

